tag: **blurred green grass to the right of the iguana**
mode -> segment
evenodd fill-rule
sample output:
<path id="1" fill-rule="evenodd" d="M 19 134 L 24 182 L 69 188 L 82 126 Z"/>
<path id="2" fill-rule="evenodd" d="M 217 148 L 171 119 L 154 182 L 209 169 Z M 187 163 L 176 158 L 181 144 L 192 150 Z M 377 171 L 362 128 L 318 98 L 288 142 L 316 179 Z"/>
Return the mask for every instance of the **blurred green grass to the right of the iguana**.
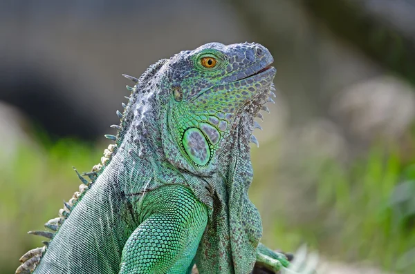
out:
<path id="1" fill-rule="evenodd" d="M 273 146 L 266 149 L 276 155 L 278 148 Z M 254 154 L 255 160 L 257 157 L 263 155 Z M 295 250 L 306 243 L 335 260 L 368 262 L 389 271 L 414 273 L 415 166 L 401 162 L 396 151 L 387 152 L 381 145 L 347 166 L 329 159 L 304 161 L 313 170 L 296 172 L 313 174 L 317 179 L 302 182 L 302 186 L 287 183 L 284 177 L 279 184 L 275 181 L 284 170 L 270 166 L 274 169 L 270 171 L 264 164 L 257 164 L 254 185 L 260 185 L 261 190 L 252 190 L 253 199 L 259 200 L 266 189 L 274 193 L 273 199 L 259 203 L 260 211 L 266 212 L 263 219 L 271 219 L 264 220 L 266 244 Z M 272 176 L 274 180 L 270 180 Z M 289 190 L 278 193 L 275 184 Z M 304 192 L 301 187 L 308 190 Z M 295 191 L 301 194 L 293 195 L 291 203 L 270 209 L 278 206 L 275 201 L 284 199 L 287 192 Z M 286 213 L 287 206 L 297 208 L 297 215 Z"/>

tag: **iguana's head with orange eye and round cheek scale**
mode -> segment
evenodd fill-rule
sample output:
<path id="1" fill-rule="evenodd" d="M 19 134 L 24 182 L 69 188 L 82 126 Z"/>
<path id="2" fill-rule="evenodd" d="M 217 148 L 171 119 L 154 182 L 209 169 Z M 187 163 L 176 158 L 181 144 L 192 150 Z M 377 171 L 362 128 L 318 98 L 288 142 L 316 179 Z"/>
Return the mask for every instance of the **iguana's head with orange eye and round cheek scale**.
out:
<path id="1" fill-rule="evenodd" d="M 159 93 L 169 162 L 203 174 L 221 164 L 225 148 L 248 143 L 253 117 L 270 95 L 273 61 L 258 43 L 208 43 L 174 55 L 165 64 Z"/>

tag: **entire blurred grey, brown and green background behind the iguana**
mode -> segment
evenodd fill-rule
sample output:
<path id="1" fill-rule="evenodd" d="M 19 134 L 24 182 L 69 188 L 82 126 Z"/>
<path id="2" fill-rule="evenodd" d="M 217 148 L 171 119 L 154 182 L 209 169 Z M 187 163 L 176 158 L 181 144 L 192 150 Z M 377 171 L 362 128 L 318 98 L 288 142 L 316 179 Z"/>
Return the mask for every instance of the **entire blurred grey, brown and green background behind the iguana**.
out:
<path id="1" fill-rule="evenodd" d="M 203 43 L 256 41 L 276 104 L 252 147 L 268 246 L 321 273 L 415 273 L 415 1 L 0 2 L 0 273 L 100 162 L 127 83 Z"/>

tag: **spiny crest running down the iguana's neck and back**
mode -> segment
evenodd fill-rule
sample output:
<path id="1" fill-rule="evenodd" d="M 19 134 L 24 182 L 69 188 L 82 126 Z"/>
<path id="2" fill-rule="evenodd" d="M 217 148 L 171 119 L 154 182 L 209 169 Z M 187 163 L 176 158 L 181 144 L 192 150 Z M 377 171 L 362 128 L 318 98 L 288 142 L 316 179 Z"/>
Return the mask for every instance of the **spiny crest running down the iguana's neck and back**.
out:
<path id="1" fill-rule="evenodd" d="M 64 224 L 65 220 L 71 214 L 73 208 L 75 208 L 77 202 L 82 198 L 82 196 L 86 193 L 86 190 L 91 188 L 92 184 L 96 181 L 98 176 L 104 170 L 104 167 L 107 166 L 111 160 L 111 157 L 114 153 L 116 153 L 116 148 L 122 142 L 122 136 L 124 135 L 124 130 L 127 130 L 129 125 L 131 124 L 131 120 L 133 118 L 133 111 L 131 110 L 131 105 L 134 104 L 136 100 L 139 99 L 138 90 L 142 90 L 142 85 L 147 83 L 147 81 L 153 77 L 156 72 L 166 63 L 167 59 L 161 59 L 154 65 L 151 65 L 139 79 L 136 77 L 131 77 L 129 75 L 123 75 L 127 79 L 133 81 L 135 86 L 131 88 L 127 86 L 127 90 L 131 92 L 130 97 L 126 97 L 129 100 L 129 103 L 126 105 L 122 103 L 123 112 L 121 113 L 119 110 L 116 111 L 117 116 L 120 118 L 120 125 L 112 125 L 111 128 L 115 128 L 118 131 L 117 135 L 104 135 L 107 139 L 111 141 L 115 141 L 116 144 L 110 144 L 108 148 L 104 150 L 104 156 L 101 157 L 101 163 L 95 164 L 93 166 L 91 172 L 89 173 L 82 173 L 80 174 L 75 168 L 75 173 L 77 177 L 81 180 L 82 184 L 79 186 L 79 191 L 76 191 L 71 199 L 68 202 L 64 201 L 64 207 L 59 209 L 59 217 L 54 219 L 50 219 L 46 224 L 44 224 L 45 228 L 48 231 L 29 231 L 28 234 L 38 235 L 42 237 L 46 237 L 50 240 L 53 239 L 59 228 Z M 89 177 L 91 181 L 88 181 L 84 178 L 84 176 Z M 28 274 L 33 273 L 37 264 L 39 264 L 42 255 L 46 252 L 48 245 L 50 242 L 43 241 L 43 247 L 34 248 L 28 252 L 26 252 L 20 258 L 21 265 L 17 268 L 16 274 Z"/>

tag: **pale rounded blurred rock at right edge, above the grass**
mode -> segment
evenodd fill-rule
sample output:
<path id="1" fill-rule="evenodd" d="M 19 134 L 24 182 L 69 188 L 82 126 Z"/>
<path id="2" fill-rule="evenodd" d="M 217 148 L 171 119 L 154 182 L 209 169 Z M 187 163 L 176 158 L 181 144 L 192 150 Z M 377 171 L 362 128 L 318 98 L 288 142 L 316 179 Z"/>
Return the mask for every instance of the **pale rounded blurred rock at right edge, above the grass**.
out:
<path id="1" fill-rule="evenodd" d="M 352 137 L 397 139 L 414 120 L 414 92 L 396 77 L 376 77 L 340 92 L 331 112 Z"/>

